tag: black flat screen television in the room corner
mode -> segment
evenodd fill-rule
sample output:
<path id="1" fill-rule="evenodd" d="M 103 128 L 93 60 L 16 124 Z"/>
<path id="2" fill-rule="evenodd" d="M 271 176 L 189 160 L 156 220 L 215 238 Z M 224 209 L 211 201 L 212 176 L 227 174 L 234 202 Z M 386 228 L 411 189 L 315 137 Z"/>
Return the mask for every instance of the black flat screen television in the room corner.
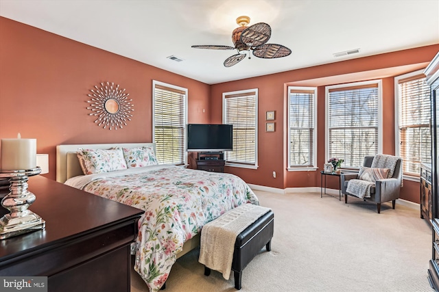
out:
<path id="1" fill-rule="evenodd" d="M 188 124 L 187 150 L 199 152 L 233 150 L 233 125 Z"/>

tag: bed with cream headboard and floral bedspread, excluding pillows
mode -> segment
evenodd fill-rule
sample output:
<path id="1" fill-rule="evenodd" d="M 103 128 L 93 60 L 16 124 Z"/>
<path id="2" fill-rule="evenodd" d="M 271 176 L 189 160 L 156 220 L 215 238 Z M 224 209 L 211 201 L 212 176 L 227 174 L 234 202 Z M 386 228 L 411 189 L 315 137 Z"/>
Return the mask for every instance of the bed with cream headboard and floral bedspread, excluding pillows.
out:
<path id="1" fill-rule="evenodd" d="M 139 220 L 132 254 L 134 269 L 150 291 L 163 286 L 176 258 L 198 247 L 204 224 L 240 204 L 259 204 L 250 187 L 233 174 L 156 163 L 130 167 L 136 164 L 128 156 L 126 169 L 84 175 L 84 161 L 78 159 L 78 149 L 114 148 L 154 151 L 155 144 L 58 145 L 56 180 L 145 211 Z"/>

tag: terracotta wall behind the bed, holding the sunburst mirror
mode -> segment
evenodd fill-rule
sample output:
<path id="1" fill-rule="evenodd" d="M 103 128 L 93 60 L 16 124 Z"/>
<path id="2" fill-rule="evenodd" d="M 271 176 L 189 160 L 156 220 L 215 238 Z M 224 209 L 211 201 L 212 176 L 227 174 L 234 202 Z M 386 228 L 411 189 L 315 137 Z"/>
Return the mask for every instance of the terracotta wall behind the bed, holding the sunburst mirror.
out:
<path id="1" fill-rule="evenodd" d="M 49 178 L 58 144 L 152 142 L 152 80 L 188 88 L 189 122 L 209 122 L 209 85 L 0 17 L 0 138 L 36 138 L 37 152 L 49 153 Z M 88 116 L 87 94 L 104 81 L 132 98 L 123 129 Z"/>

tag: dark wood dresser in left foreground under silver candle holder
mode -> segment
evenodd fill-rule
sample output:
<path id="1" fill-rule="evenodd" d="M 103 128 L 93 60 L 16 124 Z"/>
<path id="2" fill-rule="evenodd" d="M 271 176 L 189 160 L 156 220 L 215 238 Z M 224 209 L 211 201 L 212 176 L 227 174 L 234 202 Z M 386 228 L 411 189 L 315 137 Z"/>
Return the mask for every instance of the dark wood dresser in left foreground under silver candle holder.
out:
<path id="1" fill-rule="evenodd" d="M 50 292 L 130 291 L 130 243 L 143 211 L 43 176 L 28 183 L 29 209 L 46 228 L 0 240 L 0 276 L 47 276 Z"/>

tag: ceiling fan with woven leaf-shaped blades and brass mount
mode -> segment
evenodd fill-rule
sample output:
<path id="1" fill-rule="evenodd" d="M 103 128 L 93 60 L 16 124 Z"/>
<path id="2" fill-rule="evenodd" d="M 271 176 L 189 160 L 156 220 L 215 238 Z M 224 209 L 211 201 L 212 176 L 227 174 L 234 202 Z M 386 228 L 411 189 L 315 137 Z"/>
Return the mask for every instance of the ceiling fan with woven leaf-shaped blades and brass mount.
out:
<path id="1" fill-rule="evenodd" d="M 286 57 L 291 54 L 291 50 L 281 44 L 266 44 L 272 35 L 272 28 L 267 23 L 257 23 L 250 25 L 250 17 L 239 16 L 236 18 L 236 23 L 240 25 L 232 33 L 232 40 L 235 47 L 229 46 L 215 46 L 215 45 L 202 45 L 192 46 L 195 49 L 213 49 L 213 50 L 233 50 L 237 49 L 236 55 L 230 56 L 224 61 L 224 66 L 231 67 L 238 64 L 241 59 L 246 57 L 248 51 L 248 58 L 250 59 L 250 51 L 253 55 L 263 59 L 272 59 L 278 57 Z"/>

